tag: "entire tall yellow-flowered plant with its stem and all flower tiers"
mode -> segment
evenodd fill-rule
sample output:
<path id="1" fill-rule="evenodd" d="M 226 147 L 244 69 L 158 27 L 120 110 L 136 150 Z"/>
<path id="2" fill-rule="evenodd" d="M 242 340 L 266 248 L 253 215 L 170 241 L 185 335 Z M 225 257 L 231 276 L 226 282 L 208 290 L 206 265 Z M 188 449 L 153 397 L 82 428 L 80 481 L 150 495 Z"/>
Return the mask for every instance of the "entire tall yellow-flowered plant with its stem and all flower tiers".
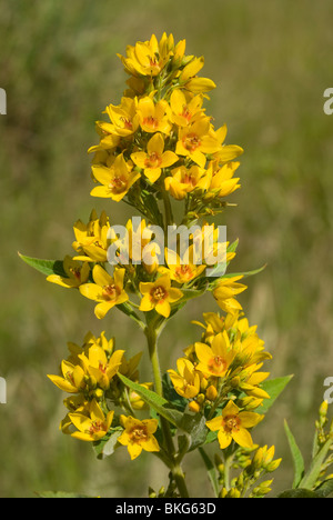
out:
<path id="1" fill-rule="evenodd" d="M 186 497 L 180 464 L 188 450 L 216 441 L 224 453 L 253 451 L 251 430 L 269 398 L 262 386 L 269 373 L 261 368 L 271 354 L 238 299 L 246 289 L 244 274 L 254 271 L 226 273 L 238 240 L 226 241 L 221 227 L 208 222 L 240 188 L 235 171 L 243 150 L 225 144 L 226 126 L 215 128 L 206 113 L 204 101 L 215 86 L 198 76 L 204 60 L 185 56 L 185 40 L 153 34 L 120 59 L 129 79 L 120 103 L 110 103 L 107 121 L 95 123 L 90 194 L 125 202 L 142 219 L 118 226 L 105 211 L 92 210 L 88 222 L 73 226 L 72 254 L 29 263 L 48 281 L 92 300 L 99 320 L 114 309 L 123 312 L 148 340 L 153 382 L 140 382 L 141 352 L 127 360 L 104 332 L 89 332 L 82 346 L 69 343 L 60 374 L 49 376 L 69 393 L 61 430 L 93 442 L 99 453 L 121 446 L 131 459 L 142 450 L 154 453 L 170 469 L 164 496 Z M 162 376 L 159 334 L 189 300 L 208 291 L 223 314 L 205 312 L 200 340 L 183 351 L 176 370 Z M 258 451 L 252 467 L 261 458 L 268 468 L 272 450 Z"/>

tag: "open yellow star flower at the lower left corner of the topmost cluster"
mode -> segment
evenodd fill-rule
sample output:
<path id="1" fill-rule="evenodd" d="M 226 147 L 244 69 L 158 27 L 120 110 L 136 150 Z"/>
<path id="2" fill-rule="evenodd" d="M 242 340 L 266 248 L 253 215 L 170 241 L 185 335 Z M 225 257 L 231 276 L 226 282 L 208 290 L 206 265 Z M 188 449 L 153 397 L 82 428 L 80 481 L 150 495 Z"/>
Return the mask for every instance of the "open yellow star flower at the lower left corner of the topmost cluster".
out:
<path id="1" fill-rule="evenodd" d="M 120 153 L 110 168 L 92 166 L 94 178 L 102 184 L 93 188 L 92 197 L 111 198 L 119 202 L 129 191 L 131 186 L 140 178 L 140 173 L 131 171 L 123 154 Z"/>

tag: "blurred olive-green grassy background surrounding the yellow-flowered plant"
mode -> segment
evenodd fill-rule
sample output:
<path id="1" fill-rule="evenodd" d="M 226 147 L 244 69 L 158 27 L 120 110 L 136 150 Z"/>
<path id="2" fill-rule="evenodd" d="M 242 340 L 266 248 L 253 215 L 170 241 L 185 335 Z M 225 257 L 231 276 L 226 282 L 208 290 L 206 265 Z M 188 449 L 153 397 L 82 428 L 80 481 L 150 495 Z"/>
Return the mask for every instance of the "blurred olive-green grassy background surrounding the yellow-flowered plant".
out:
<path id="1" fill-rule="evenodd" d="M 99 461 L 89 444 L 59 432 L 64 396 L 46 374 L 57 373 L 67 341 L 105 329 L 130 353 L 144 342 L 120 312 L 99 322 L 91 302 L 49 284 L 17 254 L 63 258 L 74 221 L 104 207 L 89 197 L 94 121 L 124 89 L 115 53 L 153 32 L 185 38 L 186 53 L 205 57 L 201 76 L 218 86 L 208 113 L 216 127 L 228 124 L 228 143 L 245 150 L 238 207 L 220 222 L 229 240 L 240 239 L 233 270 L 268 262 L 240 300 L 273 354 L 266 369 L 294 373 L 255 433 L 284 459 L 272 494 L 292 483 L 284 418 L 309 460 L 323 381 L 333 376 L 333 116 L 323 112 L 323 92 L 333 87 L 332 20 L 331 0 L 0 0 L 0 87 L 8 96 L 0 116 L 0 376 L 8 384 L 1 497 L 51 489 L 144 497 L 150 483 L 167 481 L 149 456 L 131 463 L 119 450 Z M 107 209 L 114 223 L 130 216 L 124 204 Z M 161 338 L 165 368 L 199 338 L 190 321 L 209 310 L 218 307 L 203 298 L 174 318 Z M 185 466 L 193 493 L 210 496 L 199 458 Z"/>

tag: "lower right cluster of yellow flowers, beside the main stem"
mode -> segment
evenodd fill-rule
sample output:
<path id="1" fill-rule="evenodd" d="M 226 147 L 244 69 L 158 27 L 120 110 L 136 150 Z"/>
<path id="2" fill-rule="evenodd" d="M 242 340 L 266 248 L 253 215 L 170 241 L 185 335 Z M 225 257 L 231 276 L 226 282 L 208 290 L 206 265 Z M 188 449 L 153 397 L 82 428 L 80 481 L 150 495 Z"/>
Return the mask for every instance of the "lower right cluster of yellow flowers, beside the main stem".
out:
<path id="1" fill-rule="evenodd" d="M 189 400 L 190 410 L 208 418 L 206 426 L 218 432 L 221 449 L 232 440 L 251 448 L 248 428 L 263 419 L 251 410 L 260 409 L 270 397 L 260 387 L 269 372 L 260 369 L 271 354 L 256 327 L 250 327 L 239 311 L 225 317 L 204 313 L 204 320 L 201 341 L 185 349 L 176 361 L 178 370 L 169 370 L 169 376 L 175 391 Z"/>

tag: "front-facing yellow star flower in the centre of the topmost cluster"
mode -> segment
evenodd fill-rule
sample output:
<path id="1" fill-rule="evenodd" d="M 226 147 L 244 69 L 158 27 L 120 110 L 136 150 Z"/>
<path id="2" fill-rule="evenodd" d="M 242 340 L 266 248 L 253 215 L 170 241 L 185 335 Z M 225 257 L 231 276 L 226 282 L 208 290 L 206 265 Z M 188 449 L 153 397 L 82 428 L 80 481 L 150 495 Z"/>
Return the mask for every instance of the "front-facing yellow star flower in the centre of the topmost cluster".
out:
<path id="1" fill-rule="evenodd" d="M 178 156 L 171 151 L 164 151 L 164 138 L 162 133 L 155 133 L 147 144 L 147 153 L 143 151 L 131 154 L 132 161 L 144 171 L 150 182 L 155 182 L 162 172 L 162 168 L 169 168 L 178 161 Z"/>

